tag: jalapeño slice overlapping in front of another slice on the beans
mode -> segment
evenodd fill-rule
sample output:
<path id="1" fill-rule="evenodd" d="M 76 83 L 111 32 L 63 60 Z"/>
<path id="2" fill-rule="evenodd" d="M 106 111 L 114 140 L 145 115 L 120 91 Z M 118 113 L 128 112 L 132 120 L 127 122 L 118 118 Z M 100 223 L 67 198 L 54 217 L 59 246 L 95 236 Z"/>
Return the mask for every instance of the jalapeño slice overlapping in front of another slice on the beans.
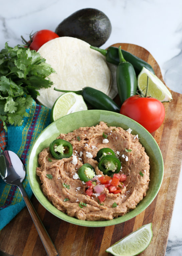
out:
<path id="1" fill-rule="evenodd" d="M 98 168 L 103 174 L 112 176 L 114 173 L 118 173 L 121 170 L 121 162 L 119 158 L 114 155 L 106 155 L 101 158 Z"/>

